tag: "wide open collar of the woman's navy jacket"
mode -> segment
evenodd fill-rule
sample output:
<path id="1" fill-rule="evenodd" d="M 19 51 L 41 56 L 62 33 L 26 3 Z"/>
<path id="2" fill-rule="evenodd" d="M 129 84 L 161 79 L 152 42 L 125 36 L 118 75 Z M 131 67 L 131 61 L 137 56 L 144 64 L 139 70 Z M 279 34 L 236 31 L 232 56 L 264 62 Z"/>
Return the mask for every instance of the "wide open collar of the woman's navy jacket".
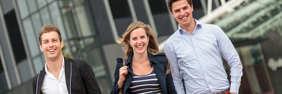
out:
<path id="1" fill-rule="evenodd" d="M 149 56 L 149 61 L 150 61 L 150 65 L 151 67 L 153 67 L 153 64 L 160 64 L 157 59 L 149 53 L 149 51 L 147 50 L 147 53 L 148 53 L 148 56 Z M 132 56 L 133 56 L 133 51 L 131 52 L 130 56 L 127 58 L 126 62 L 125 62 L 125 65 L 128 65 L 130 64 L 129 66 L 132 66 Z"/>

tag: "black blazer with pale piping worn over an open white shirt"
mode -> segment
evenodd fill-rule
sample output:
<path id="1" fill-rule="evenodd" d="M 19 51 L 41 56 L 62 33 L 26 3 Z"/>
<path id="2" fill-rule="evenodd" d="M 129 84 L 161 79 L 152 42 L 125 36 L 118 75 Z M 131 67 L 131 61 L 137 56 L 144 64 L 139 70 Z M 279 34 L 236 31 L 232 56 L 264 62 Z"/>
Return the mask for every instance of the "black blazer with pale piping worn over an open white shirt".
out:
<path id="1" fill-rule="evenodd" d="M 93 70 L 85 60 L 63 58 L 65 60 L 65 76 L 69 94 L 101 94 Z M 42 94 L 41 87 L 44 75 L 45 67 L 34 76 L 32 80 L 34 94 Z"/>

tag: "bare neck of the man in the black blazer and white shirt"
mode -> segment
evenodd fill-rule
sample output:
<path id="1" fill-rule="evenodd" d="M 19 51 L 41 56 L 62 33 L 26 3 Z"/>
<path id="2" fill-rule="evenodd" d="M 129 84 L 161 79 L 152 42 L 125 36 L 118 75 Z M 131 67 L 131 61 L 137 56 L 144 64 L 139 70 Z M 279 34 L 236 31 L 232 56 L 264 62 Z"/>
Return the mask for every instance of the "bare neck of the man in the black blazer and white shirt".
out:
<path id="1" fill-rule="evenodd" d="M 48 60 L 46 59 L 47 69 L 49 72 L 61 71 L 62 68 L 63 56 L 59 56 L 59 58 Z"/>

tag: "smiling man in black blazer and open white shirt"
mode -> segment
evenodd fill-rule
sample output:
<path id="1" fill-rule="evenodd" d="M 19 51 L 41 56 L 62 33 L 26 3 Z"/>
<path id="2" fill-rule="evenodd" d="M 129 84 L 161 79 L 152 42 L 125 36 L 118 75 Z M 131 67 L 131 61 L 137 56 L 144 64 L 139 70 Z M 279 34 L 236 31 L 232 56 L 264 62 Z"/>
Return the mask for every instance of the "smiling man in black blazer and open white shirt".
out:
<path id="1" fill-rule="evenodd" d="M 90 65 L 63 56 L 63 40 L 57 27 L 44 25 L 39 42 L 46 64 L 32 80 L 34 94 L 101 94 Z"/>

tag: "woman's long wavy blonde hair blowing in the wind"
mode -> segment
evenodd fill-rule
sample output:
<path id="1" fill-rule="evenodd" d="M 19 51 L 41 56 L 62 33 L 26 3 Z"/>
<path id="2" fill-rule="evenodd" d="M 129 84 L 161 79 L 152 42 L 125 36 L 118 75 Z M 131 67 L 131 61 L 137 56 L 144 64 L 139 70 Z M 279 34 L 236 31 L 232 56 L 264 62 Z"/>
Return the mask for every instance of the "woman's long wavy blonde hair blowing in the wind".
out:
<path id="1" fill-rule="evenodd" d="M 147 46 L 147 50 L 149 51 L 149 53 L 152 54 L 152 55 L 160 53 L 159 49 L 158 49 L 157 35 L 154 34 L 151 26 L 149 24 L 144 24 L 141 21 L 136 21 L 136 22 L 131 23 L 127 27 L 124 34 L 122 34 L 122 37 L 118 37 L 116 39 L 116 43 L 124 45 L 122 48 L 124 50 L 125 56 L 128 58 L 130 56 L 131 52 L 133 51 L 133 48 L 130 47 L 130 44 L 127 41 L 130 38 L 129 35 L 133 30 L 138 29 L 138 28 L 144 29 L 147 37 L 149 37 L 149 44 Z M 170 65 L 170 62 L 168 60 L 168 66 L 167 66 L 167 71 L 166 71 L 165 75 L 170 73 L 170 68 L 171 68 L 171 65 Z"/>

